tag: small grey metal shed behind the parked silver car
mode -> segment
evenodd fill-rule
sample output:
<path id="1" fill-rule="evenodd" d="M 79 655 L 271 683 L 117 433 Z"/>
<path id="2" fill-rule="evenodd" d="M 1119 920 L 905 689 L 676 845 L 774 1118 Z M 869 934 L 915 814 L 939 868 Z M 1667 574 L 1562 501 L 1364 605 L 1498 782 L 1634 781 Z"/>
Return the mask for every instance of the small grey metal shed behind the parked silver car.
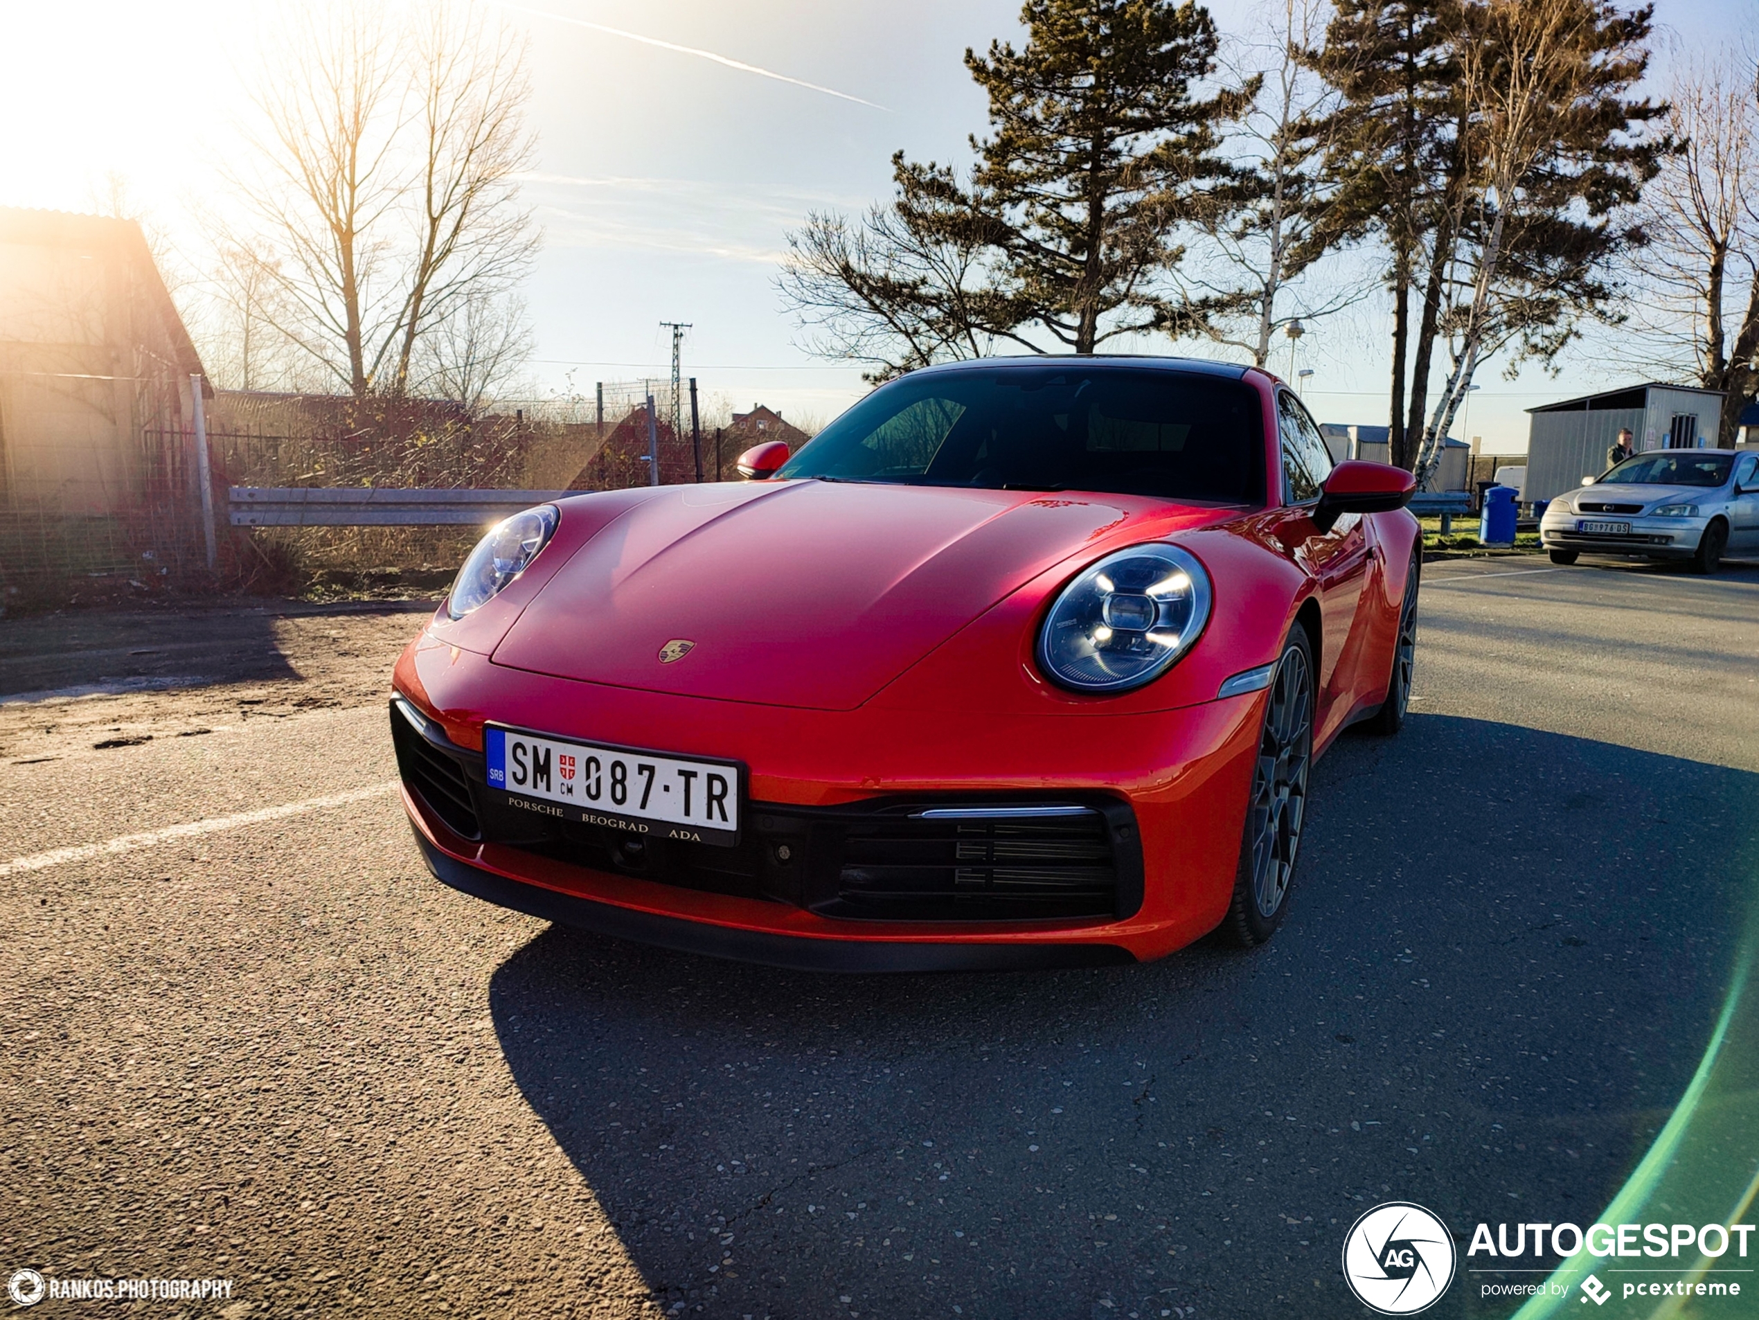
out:
<path id="1" fill-rule="evenodd" d="M 1606 451 L 1629 428 L 1636 447 L 1715 447 L 1722 391 L 1650 382 L 1529 408 L 1527 498 L 1550 500 L 1606 472 Z"/>

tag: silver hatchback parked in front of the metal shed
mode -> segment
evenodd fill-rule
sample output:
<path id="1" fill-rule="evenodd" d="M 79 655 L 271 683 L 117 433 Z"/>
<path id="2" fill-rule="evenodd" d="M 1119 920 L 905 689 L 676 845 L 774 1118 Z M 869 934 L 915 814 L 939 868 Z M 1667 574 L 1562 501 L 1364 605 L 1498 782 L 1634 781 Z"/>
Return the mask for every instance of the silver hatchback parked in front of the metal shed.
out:
<path id="1" fill-rule="evenodd" d="M 1713 574 L 1724 553 L 1759 554 L 1759 452 L 1655 449 L 1566 491 L 1544 510 L 1551 563 L 1583 551 L 1690 560 Z"/>

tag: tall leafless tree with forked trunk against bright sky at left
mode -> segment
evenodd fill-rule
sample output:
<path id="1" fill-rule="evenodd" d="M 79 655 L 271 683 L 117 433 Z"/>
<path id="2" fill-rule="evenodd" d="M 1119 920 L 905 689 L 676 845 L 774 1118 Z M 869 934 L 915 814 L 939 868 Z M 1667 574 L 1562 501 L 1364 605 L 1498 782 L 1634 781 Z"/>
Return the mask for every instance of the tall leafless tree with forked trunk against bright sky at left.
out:
<path id="1" fill-rule="evenodd" d="M 445 0 L 412 28 L 366 0 L 288 11 L 266 58 L 252 225 L 273 327 L 355 396 L 403 394 L 424 336 L 505 296 L 536 234 L 517 204 L 531 158 L 524 42 Z"/>

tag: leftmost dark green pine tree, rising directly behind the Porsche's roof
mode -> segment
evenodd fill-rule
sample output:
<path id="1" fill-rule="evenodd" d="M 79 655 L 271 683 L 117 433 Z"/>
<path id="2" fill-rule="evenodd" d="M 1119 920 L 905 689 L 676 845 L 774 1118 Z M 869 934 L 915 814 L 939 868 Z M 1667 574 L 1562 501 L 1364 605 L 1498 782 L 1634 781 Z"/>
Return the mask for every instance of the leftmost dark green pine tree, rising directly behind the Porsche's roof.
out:
<path id="1" fill-rule="evenodd" d="M 967 181 L 897 155 L 890 208 L 790 236 L 781 292 L 821 350 L 883 377 L 996 340 L 1091 354 L 1201 326 L 1210 304 L 1164 276 L 1180 227 L 1238 195 L 1221 127 L 1256 86 L 1198 95 L 1219 37 L 1193 0 L 1027 0 L 1022 21 L 1024 48 L 966 51 L 990 120 Z"/>

